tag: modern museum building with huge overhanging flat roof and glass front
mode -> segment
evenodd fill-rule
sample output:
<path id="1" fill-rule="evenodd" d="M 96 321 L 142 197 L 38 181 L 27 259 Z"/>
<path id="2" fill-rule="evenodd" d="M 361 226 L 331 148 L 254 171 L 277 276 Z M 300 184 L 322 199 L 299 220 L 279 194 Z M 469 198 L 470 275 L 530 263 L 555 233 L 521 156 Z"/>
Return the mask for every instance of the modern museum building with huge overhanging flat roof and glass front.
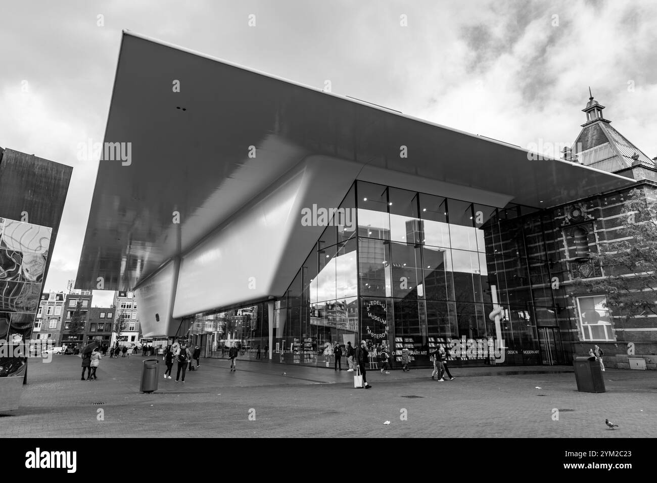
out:
<path id="1" fill-rule="evenodd" d="M 632 182 L 131 32 L 108 145 L 76 288 L 206 357 L 321 367 L 360 340 L 568 363 L 548 209 Z"/>

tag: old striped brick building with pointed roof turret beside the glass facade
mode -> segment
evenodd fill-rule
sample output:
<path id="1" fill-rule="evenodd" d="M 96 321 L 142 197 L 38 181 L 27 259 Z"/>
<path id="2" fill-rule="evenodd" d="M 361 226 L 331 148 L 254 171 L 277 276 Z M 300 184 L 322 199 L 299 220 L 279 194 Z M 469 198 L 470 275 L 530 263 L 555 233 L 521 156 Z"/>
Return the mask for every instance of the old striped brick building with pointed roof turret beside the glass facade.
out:
<path id="1" fill-rule="evenodd" d="M 516 250 L 513 256 L 523 260 L 510 264 L 509 269 L 512 256 L 503 254 L 507 290 L 526 300 L 528 311 L 535 312 L 543 363 L 570 363 L 572 357 L 587 355 L 597 344 L 604 351 L 607 367 L 628 369 L 632 363 L 641 368 L 645 363 L 646 369 L 657 369 L 657 317 L 612 313 L 606 308 L 606 294 L 591 293 L 575 283 L 578 278 L 595 281 L 610 274 L 610 268 L 600 266 L 591 254 L 608 242 L 623 239 L 627 220 L 622 210 L 629 193 L 639 189 L 646 200 L 657 199 L 657 158 L 650 159 L 610 126 L 603 109 L 591 96 L 583 109 L 586 122 L 572 149 L 564 152 L 564 159 L 635 182 L 550 210 L 532 213 L 518 207 L 507 214 L 509 219 L 499 222 L 499 236 L 504 246 Z M 487 235 L 492 243 L 498 234 Z M 495 271 L 494 264 L 489 264 L 490 271 Z M 618 271 L 614 274 L 621 275 Z M 629 275 L 630 283 L 637 285 L 632 281 L 637 275 L 622 275 Z"/>

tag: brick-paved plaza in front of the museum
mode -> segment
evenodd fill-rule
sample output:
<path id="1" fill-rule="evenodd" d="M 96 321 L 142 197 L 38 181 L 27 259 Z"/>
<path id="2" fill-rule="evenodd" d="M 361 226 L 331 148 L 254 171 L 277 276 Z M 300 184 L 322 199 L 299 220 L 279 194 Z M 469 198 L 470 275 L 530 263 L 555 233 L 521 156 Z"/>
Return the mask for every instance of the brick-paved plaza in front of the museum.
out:
<path id="1" fill-rule="evenodd" d="M 231 373 L 228 361 L 202 359 L 184 385 L 160 372 L 158 391 L 143 394 L 143 359 L 104 357 L 95 382 L 80 380 L 78 356 L 31 359 L 20 409 L 0 417 L 0 434 L 344 437 L 358 429 L 377 437 L 635 438 L 657 430 L 655 371 L 608 370 L 604 394 L 577 392 L 571 367 L 453 369 L 457 379 L 445 382 L 426 369 L 371 371 L 373 388 L 363 390 L 346 371 L 239 361 Z M 608 430 L 605 418 L 620 428 Z"/>

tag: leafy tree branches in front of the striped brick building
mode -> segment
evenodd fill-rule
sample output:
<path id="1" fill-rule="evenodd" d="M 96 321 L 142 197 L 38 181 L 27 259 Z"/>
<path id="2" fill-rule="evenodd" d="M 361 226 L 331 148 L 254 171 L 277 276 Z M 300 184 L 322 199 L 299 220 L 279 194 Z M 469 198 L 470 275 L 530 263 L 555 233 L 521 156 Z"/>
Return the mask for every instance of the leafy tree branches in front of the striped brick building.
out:
<path id="1" fill-rule="evenodd" d="M 657 315 L 657 203 L 634 189 L 621 214 L 621 238 L 630 238 L 600 244 L 600 251 L 591 254 L 602 265 L 604 279 L 576 283 L 606 294 L 606 306 L 616 315 Z"/>

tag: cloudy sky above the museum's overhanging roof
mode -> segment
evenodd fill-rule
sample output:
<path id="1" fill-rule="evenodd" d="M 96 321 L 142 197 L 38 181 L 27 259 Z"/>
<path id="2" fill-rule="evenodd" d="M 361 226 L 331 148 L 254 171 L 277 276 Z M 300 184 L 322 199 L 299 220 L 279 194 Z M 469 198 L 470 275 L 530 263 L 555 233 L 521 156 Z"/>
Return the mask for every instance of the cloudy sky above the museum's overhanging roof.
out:
<path id="1" fill-rule="evenodd" d="M 657 156 L 654 0 L 0 0 L 0 17 L 0 146 L 74 167 L 46 290 L 76 276 L 98 169 L 76 151 L 102 140 L 124 28 L 521 147 L 572 143 L 590 85 Z"/>

